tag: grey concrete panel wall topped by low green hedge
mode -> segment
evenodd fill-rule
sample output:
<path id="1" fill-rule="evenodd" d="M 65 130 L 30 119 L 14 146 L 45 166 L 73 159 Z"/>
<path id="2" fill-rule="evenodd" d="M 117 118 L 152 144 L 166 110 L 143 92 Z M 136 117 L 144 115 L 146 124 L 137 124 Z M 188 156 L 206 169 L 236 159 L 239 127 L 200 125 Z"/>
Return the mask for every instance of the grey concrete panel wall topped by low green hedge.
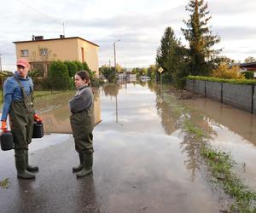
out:
<path id="1" fill-rule="evenodd" d="M 186 89 L 256 114 L 256 80 L 189 76 Z"/>

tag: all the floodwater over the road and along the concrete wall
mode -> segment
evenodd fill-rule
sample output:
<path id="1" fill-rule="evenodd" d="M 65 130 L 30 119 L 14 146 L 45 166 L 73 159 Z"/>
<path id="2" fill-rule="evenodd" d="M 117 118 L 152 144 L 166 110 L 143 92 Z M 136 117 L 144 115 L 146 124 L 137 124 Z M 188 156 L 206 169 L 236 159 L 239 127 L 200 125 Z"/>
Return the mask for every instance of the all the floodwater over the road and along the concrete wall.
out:
<path id="1" fill-rule="evenodd" d="M 44 119 L 48 134 L 71 133 L 67 101 L 72 95 L 70 92 L 37 100 L 35 106 Z M 78 161 L 73 152 L 72 135 L 51 134 L 35 140 L 32 142 L 32 159 L 41 160 L 40 168 L 43 169 L 29 189 L 21 184 L 21 189 L 28 191 L 33 200 L 31 207 L 28 202 L 26 207 L 19 204 L 23 210 L 33 210 L 34 206 L 37 212 L 224 210 L 224 194 L 207 181 L 197 159 L 196 146 L 188 140 L 179 124 L 183 116 L 178 113 L 181 109 L 189 113 L 191 120 L 211 132 L 209 142 L 213 147 L 231 153 L 238 163 L 236 171 L 255 189 L 254 115 L 205 98 L 177 101 L 167 87 L 160 90 L 150 83 L 106 85 L 96 90 L 95 96 L 98 124 L 94 130 L 93 176 L 77 181 L 69 172 L 72 164 Z M 5 157 L 11 158 L 8 152 L 1 154 L 1 162 Z M 13 174 L 8 166 L 0 166 L 1 170 L 8 176 Z M 47 180 L 50 182 L 45 182 Z M 7 198 L 12 195 L 19 200 L 20 195 L 15 193 L 15 187 L 21 190 L 19 184 L 15 183 L 15 178 L 11 181 L 11 193 Z M 7 200 L 5 205 L 0 201 L 1 209 L 4 210 Z M 51 205 L 57 209 L 51 209 Z"/>

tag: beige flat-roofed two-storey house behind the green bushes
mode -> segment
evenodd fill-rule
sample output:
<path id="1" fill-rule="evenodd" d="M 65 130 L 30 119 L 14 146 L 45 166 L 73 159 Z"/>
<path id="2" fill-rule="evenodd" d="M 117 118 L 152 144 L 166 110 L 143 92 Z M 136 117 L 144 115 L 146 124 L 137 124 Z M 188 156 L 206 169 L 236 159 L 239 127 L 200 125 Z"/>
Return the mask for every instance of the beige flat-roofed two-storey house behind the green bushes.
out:
<path id="1" fill-rule="evenodd" d="M 49 62 L 52 60 L 79 60 L 86 62 L 90 70 L 99 76 L 99 45 L 82 37 L 64 37 L 44 39 L 43 36 L 32 36 L 30 41 L 14 42 L 16 56 L 28 60 L 32 68 L 44 71 L 47 75 Z"/>

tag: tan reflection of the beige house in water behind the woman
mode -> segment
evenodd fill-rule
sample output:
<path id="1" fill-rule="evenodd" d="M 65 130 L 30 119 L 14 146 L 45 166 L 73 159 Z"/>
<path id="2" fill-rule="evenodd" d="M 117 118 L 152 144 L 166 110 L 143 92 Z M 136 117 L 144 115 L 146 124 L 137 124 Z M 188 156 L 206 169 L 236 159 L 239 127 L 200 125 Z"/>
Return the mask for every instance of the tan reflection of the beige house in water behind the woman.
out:
<path id="1" fill-rule="evenodd" d="M 101 106 L 98 89 L 94 89 L 95 122 L 101 121 Z M 44 120 L 44 131 L 49 133 L 72 133 L 68 109 L 68 101 L 75 91 L 69 91 L 58 95 L 48 95 L 35 100 L 35 108 Z"/>

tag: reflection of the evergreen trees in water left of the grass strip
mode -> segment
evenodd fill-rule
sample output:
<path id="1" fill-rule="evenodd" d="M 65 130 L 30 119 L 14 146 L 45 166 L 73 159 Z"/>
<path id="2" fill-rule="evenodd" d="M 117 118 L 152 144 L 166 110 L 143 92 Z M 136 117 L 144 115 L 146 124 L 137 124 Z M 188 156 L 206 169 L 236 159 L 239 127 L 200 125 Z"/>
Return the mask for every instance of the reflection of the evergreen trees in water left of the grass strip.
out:
<path id="1" fill-rule="evenodd" d="M 186 119 L 192 123 L 196 122 L 203 127 L 206 126 L 207 122 L 204 119 L 198 119 L 195 115 L 186 114 L 188 111 L 185 111 L 183 107 L 177 103 L 175 96 L 170 94 L 168 88 L 164 87 L 163 89 L 161 86 L 154 84 L 148 84 L 148 88 L 153 90 L 156 94 L 155 107 L 166 135 L 172 135 L 176 130 L 183 133 L 183 135 L 180 134 L 180 136 L 183 136 L 180 147 L 182 153 L 185 153 L 187 156 L 184 160 L 184 164 L 187 170 L 191 170 L 190 180 L 195 181 L 195 171 L 200 168 L 199 144 L 197 140 L 185 133 L 183 130 L 183 122 Z"/>

